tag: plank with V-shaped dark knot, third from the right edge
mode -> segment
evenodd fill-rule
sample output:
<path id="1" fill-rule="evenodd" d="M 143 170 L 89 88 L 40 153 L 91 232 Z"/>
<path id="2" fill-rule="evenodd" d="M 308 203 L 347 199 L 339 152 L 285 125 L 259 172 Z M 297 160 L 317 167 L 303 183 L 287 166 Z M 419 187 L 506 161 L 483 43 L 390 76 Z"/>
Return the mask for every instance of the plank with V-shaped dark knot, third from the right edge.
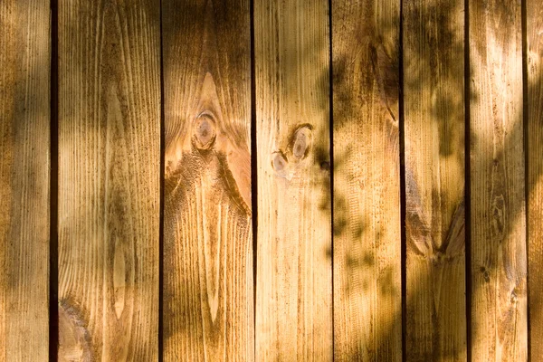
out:
<path id="1" fill-rule="evenodd" d="M 408 361 L 467 358 L 463 3 L 404 3 Z"/>

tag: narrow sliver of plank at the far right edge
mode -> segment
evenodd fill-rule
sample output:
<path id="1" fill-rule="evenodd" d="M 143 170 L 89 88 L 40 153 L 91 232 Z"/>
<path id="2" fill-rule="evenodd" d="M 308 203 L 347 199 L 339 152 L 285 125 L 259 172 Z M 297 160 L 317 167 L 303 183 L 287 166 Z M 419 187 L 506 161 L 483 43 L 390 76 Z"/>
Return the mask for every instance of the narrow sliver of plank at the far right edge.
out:
<path id="1" fill-rule="evenodd" d="M 528 0 L 528 255 L 530 357 L 543 356 L 543 7 Z"/>

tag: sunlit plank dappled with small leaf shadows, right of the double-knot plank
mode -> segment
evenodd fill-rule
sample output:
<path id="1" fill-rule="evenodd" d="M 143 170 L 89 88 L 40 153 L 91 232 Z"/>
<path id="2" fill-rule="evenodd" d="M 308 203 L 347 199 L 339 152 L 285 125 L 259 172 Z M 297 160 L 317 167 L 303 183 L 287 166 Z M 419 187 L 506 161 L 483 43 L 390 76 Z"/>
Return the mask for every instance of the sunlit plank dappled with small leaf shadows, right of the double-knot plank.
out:
<path id="1" fill-rule="evenodd" d="M 334 359 L 402 359 L 397 0 L 332 2 Z"/>

